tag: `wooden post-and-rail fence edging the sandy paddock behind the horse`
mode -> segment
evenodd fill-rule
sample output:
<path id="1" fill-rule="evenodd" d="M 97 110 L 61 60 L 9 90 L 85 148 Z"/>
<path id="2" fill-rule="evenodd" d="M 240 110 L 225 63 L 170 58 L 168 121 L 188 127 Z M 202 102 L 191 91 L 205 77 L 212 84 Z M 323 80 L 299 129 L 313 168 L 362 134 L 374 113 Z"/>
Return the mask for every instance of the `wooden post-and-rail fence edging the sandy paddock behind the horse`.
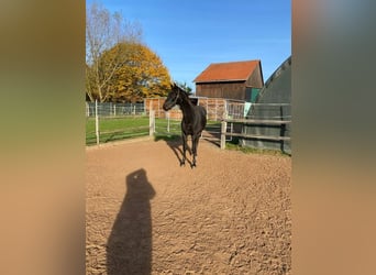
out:
<path id="1" fill-rule="evenodd" d="M 124 129 L 115 129 L 115 130 L 108 130 L 108 131 L 99 131 L 99 111 L 98 111 L 98 103 L 95 105 L 95 135 L 96 143 L 100 143 L 100 136 L 110 135 L 109 140 L 112 139 L 112 135 L 125 135 L 126 136 L 139 136 L 144 135 L 147 133 L 150 135 L 154 135 L 155 133 L 158 134 L 170 134 L 180 132 L 179 128 L 179 120 L 181 120 L 183 114 L 181 111 L 178 108 L 174 108 L 169 112 L 165 112 L 162 109 L 162 106 L 165 101 L 164 98 L 161 98 L 158 100 L 150 100 L 146 99 L 144 105 L 147 108 L 147 111 L 144 110 L 144 114 L 148 114 L 148 127 L 147 124 L 142 127 L 133 127 L 128 128 L 126 131 Z M 229 139 L 232 139 L 233 136 L 241 138 L 243 141 L 258 141 L 261 142 L 268 142 L 268 143 L 277 143 L 280 142 L 281 148 L 285 146 L 285 142 L 289 144 L 290 141 L 290 123 L 291 123 L 291 117 L 285 116 L 280 118 L 276 117 L 268 117 L 265 119 L 259 118 L 250 118 L 244 119 L 244 103 L 240 102 L 232 102 L 233 105 L 230 105 L 229 102 L 225 102 L 224 99 L 208 99 L 208 98 L 200 98 L 199 101 L 200 105 L 204 106 L 208 110 L 208 118 L 209 120 L 212 120 L 210 125 L 208 123 L 207 129 L 203 133 L 202 138 L 210 139 L 211 141 L 217 141 L 220 143 L 221 148 L 225 148 L 225 142 L 229 141 Z M 272 106 L 272 105 L 268 105 Z M 237 108 L 237 111 L 234 111 Z M 146 108 L 145 108 L 146 109 Z M 210 110 L 213 110 L 213 112 L 210 112 Z M 231 110 L 231 113 L 228 113 L 226 111 Z M 239 116 L 237 116 L 239 113 Z M 104 118 L 107 118 L 104 116 Z M 118 118 L 118 117 L 110 117 L 111 119 Z M 121 117 L 120 117 L 121 118 Z M 156 125 L 156 120 L 159 119 L 158 124 Z M 109 119 L 109 118 L 108 118 Z M 162 120 L 161 120 L 162 119 Z M 218 121 L 218 122 L 214 122 Z M 219 121 L 220 124 L 219 124 Z M 262 130 L 266 128 L 272 128 L 273 131 L 247 131 L 247 129 L 257 129 L 263 128 Z M 157 128 L 157 129 L 156 129 Z M 133 133 L 133 132 L 134 133 Z M 92 135 L 93 133 L 89 133 Z M 87 133 L 88 134 L 88 133 Z M 92 138 L 91 138 L 92 139 Z M 267 144 L 268 144 L 267 143 Z M 245 145 L 246 146 L 246 145 Z M 253 146 L 253 145 L 251 145 Z"/>

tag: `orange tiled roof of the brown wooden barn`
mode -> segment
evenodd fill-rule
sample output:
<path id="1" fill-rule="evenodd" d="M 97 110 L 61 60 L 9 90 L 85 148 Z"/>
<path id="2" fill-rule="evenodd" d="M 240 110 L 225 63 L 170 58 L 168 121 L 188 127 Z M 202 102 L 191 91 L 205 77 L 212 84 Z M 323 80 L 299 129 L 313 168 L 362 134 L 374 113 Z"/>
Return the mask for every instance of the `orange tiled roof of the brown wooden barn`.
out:
<path id="1" fill-rule="evenodd" d="M 242 81 L 250 78 L 261 61 L 244 61 L 210 64 L 193 82 Z"/>

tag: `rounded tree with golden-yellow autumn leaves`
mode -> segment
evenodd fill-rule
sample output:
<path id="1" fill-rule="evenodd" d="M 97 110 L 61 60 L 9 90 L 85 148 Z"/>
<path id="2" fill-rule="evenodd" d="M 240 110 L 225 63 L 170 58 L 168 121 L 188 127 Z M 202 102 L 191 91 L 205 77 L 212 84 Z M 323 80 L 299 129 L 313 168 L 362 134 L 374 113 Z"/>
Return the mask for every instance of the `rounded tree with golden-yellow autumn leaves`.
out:
<path id="1" fill-rule="evenodd" d="M 134 42 L 119 43 L 103 53 L 100 64 L 120 61 L 111 81 L 103 86 L 110 101 L 142 101 L 146 97 L 168 94 L 170 76 L 162 59 L 146 45 Z"/>

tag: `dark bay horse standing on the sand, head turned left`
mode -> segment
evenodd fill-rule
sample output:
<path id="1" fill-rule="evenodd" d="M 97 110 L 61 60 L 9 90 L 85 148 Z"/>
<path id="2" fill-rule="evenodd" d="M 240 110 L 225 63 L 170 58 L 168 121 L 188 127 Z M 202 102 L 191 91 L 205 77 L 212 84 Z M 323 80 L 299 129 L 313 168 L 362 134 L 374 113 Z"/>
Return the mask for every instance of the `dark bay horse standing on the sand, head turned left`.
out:
<path id="1" fill-rule="evenodd" d="M 165 111 L 170 110 L 174 106 L 178 105 L 183 112 L 181 120 L 181 138 L 183 138 L 183 160 L 180 166 L 186 163 L 186 151 L 188 147 L 187 138 L 191 135 L 192 138 L 192 154 L 193 162 L 191 167 L 196 166 L 196 156 L 198 142 L 201 136 L 201 132 L 207 125 L 207 110 L 201 106 L 195 106 L 188 94 L 177 86 L 175 82 L 172 85 L 172 91 L 168 94 L 163 109 Z"/>

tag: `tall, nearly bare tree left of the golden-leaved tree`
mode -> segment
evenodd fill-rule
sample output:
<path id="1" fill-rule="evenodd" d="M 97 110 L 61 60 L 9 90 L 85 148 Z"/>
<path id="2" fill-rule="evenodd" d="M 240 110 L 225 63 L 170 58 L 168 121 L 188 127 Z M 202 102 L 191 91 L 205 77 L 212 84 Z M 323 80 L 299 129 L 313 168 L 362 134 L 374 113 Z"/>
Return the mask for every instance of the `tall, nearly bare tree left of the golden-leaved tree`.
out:
<path id="1" fill-rule="evenodd" d="M 119 12 L 111 14 L 96 2 L 88 6 L 86 14 L 86 94 L 91 101 L 103 102 L 109 98 L 104 87 L 122 65 L 120 57 L 124 53 L 113 53 L 106 63 L 100 61 L 102 54 L 119 43 L 140 42 L 142 29 L 137 23 L 124 20 Z"/>

